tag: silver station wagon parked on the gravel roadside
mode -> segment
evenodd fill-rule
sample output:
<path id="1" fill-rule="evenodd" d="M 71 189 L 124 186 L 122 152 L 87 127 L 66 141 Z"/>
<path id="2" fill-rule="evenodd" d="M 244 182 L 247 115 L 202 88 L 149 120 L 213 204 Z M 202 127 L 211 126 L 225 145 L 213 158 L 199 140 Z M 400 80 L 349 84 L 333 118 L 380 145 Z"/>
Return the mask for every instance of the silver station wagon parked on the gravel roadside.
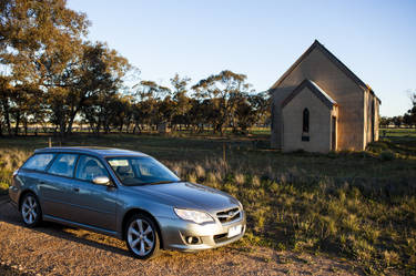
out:
<path id="1" fill-rule="evenodd" d="M 13 173 L 11 202 L 29 227 L 50 221 L 125 239 L 138 258 L 237 241 L 245 213 L 233 196 L 181 181 L 155 159 L 104 147 L 37 150 Z"/>

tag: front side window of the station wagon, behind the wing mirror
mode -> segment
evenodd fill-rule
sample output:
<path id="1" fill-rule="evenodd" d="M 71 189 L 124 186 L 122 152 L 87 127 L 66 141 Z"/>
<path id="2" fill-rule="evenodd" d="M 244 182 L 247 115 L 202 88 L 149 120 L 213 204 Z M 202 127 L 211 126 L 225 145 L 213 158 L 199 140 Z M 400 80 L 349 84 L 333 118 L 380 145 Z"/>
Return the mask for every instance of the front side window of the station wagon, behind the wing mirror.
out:
<path id="1" fill-rule="evenodd" d="M 75 177 L 82 181 L 92 181 L 98 176 L 109 176 L 104 165 L 95 157 L 81 155 L 78 162 Z"/>

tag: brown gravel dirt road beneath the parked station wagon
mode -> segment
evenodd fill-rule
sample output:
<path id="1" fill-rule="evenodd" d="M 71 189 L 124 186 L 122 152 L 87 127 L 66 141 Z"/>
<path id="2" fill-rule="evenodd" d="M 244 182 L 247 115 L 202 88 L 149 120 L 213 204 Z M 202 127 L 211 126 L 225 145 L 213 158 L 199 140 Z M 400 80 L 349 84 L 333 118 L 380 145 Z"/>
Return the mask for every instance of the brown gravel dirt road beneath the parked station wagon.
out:
<path id="1" fill-rule="evenodd" d="M 92 232 L 44 224 L 30 229 L 0 197 L 0 274 L 7 275 L 352 275 L 346 262 L 264 247 L 227 247 L 193 254 L 163 252 L 132 258 L 123 242 Z"/>

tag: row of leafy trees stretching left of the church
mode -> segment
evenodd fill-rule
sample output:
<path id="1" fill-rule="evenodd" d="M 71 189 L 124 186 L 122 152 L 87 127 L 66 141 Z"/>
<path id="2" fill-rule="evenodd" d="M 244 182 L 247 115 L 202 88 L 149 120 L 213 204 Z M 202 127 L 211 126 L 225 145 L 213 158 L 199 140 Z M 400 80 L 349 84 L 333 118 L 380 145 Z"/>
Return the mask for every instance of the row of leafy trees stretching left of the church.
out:
<path id="1" fill-rule="evenodd" d="M 89 25 L 65 0 L 0 2 L 0 135 L 50 125 L 68 135 L 80 123 L 95 133 L 164 124 L 223 134 L 267 123 L 270 96 L 254 93 L 246 75 L 224 70 L 192 84 L 175 74 L 169 86 L 138 81 L 125 58 L 87 40 Z"/>

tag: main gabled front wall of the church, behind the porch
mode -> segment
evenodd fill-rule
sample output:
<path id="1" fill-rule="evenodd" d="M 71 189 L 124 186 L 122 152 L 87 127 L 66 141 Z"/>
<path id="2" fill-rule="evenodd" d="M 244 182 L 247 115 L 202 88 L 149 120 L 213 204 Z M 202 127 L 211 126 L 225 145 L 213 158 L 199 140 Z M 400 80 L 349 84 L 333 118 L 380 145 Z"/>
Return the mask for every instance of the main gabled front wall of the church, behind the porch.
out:
<path id="1" fill-rule="evenodd" d="M 272 146 L 282 147 L 283 127 L 288 130 L 282 126 L 282 120 L 276 120 L 281 113 L 278 103 L 305 79 L 314 81 L 338 104 L 337 150 L 364 150 L 363 90 L 317 48 L 273 90 L 275 124 Z"/>

